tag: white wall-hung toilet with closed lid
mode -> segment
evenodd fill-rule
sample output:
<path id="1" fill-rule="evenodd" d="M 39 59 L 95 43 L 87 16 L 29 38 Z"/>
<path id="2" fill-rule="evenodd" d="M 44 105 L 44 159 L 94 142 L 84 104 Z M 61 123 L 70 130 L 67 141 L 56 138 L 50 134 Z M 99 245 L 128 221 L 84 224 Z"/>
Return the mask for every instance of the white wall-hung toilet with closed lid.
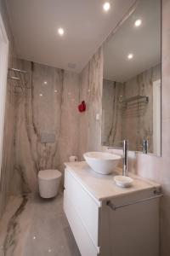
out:
<path id="1" fill-rule="evenodd" d="M 61 172 L 58 170 L 43 170 L 38 172 L 39 193 L 42 198 L 52 198 L 59 191 Z"/>

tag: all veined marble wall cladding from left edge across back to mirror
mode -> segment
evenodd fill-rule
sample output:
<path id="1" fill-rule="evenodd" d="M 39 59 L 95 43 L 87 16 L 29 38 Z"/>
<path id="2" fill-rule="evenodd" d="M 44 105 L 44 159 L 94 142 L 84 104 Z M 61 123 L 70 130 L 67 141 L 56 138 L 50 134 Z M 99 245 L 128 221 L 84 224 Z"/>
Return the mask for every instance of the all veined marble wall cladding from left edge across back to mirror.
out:
<path id="1" fill-rule="evenodd" d="M 57 168 L 63 172 L 70 155 L 82 159 L 84 151 L 101 145 L 102 49 L 80 74 L 14 59 L 12 55 L 14 51 L 9 66 L 28 72 L 26 82 L 31 90 L 26 91 L 26 96 L 20 90 L 14 93 L 14 84 L 8 80 L 1 210 L 8 195 L 37 191 L 39 170 Z M 87 102 L 85 113 L 77 110 L 82 100 Z"/>

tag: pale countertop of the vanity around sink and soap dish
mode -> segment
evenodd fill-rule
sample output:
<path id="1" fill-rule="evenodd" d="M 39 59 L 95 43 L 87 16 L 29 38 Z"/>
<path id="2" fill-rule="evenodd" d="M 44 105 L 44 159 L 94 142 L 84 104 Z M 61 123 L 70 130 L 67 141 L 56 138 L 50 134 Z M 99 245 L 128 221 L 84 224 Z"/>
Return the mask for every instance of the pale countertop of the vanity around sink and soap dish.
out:
<path id="1" fill-rule="evenodd" d="M 129 177 L 133 177 L 133 186 L 130 188 L 121 188 L 116 185 L 113 180 L 115 175 L 122 175 L 122 170 L 116 169 L 116 172 L 111 175 L 100 175 L 94 172 L 88 164 L 83 162 L 68 162 L 65 163 L 66 169 L 82 184 L 84 189 L 93 195 L 98 201 L 117 197 L 121 195 L 132 194 L 136 191 L 145 189 L 159 189 L 160 184 L 152 182 L 143 177 L 139 177 L 129 173 Z"/>

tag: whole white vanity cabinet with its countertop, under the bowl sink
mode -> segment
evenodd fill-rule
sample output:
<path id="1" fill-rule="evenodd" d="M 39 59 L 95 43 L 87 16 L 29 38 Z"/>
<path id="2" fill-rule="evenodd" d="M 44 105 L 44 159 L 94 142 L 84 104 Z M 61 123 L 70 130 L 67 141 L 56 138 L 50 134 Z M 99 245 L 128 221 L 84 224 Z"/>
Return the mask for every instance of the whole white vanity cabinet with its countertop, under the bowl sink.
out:
<path id="1" fill-rule="evenodd" d="M 118 188 L 84 162 L 66 164 L 64 210 L 82 256 L 158 256 L 158 189 L 140 179 Z"/>

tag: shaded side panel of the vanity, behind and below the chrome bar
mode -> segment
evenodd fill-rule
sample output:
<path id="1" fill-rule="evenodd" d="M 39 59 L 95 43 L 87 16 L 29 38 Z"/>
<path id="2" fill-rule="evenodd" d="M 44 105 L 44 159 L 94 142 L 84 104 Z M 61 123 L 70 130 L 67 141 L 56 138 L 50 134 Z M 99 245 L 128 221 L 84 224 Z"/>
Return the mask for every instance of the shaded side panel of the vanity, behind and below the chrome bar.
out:
<path id="1" fill-rule="evenodd" d="M 150 197 L 148 191 L 111 200 L 115 206 Z M 159 199 L 140 202 L 113 211 L 102 205 L 102 256 L 159 255 Z"/>

